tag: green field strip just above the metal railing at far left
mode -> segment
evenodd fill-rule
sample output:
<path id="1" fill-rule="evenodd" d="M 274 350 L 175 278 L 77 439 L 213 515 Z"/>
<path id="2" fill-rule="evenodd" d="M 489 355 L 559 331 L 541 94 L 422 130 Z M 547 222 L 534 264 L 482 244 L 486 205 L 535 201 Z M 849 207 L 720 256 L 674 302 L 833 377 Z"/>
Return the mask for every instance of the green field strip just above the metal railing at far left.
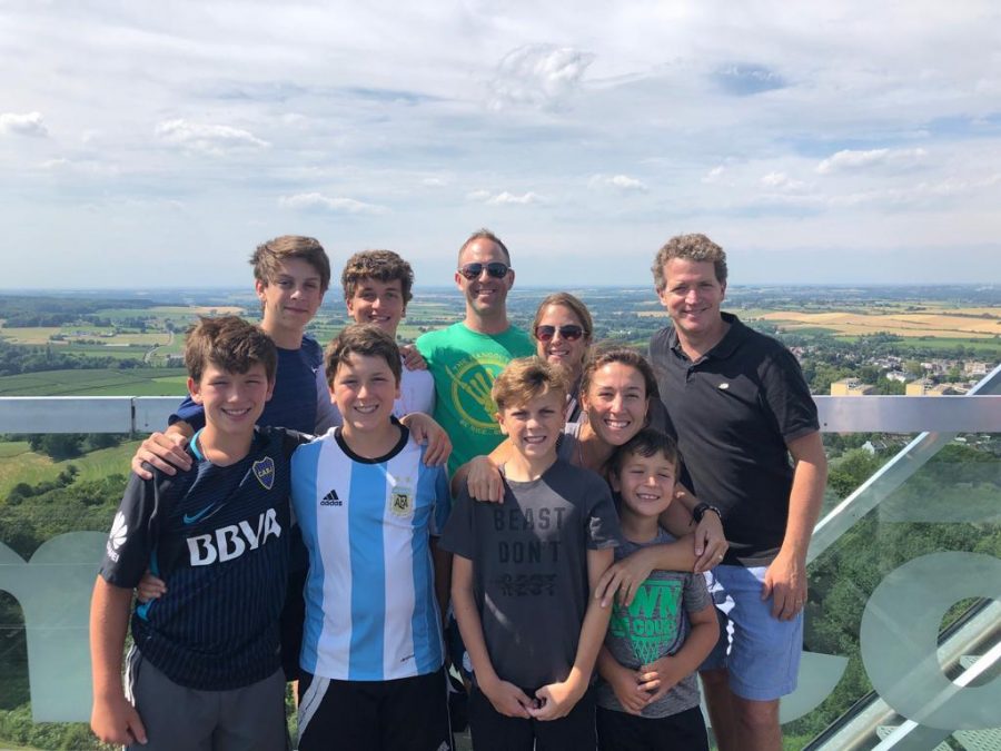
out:
<path id="1" fill-rule="evenodd" d="M 0 377 L 0 396 L 184 396 L 184 368 L 42 370 Z"/>

